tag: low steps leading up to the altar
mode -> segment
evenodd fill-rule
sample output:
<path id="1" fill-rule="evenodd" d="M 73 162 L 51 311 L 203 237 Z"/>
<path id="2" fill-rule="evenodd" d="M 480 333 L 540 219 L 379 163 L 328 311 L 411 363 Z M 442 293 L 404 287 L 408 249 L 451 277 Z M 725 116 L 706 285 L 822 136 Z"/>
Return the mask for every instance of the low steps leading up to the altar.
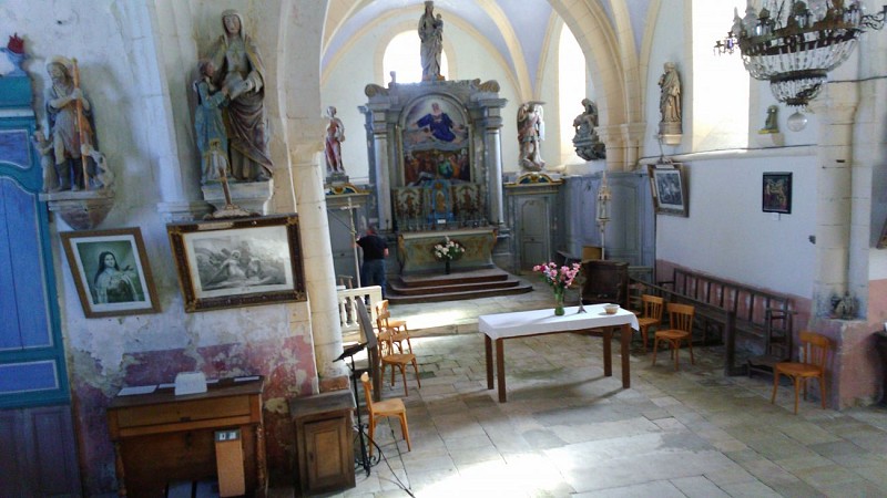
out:
<path id="1" fill-rule="evenodd" d="M 498 268 L 391 278 L 387 299 L 391 304 L 456 301 L 522 294 L 532 286 Z"/>

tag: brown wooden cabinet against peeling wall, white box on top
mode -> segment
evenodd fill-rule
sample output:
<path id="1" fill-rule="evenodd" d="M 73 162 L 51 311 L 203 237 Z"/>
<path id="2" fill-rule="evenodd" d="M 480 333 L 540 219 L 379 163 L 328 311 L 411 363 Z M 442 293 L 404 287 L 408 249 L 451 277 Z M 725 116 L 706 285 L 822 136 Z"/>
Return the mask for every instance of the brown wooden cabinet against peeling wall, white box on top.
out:
<path id="1" fill-rule="evenodd" d="M 108 426 L 116 449 L 120 496 L 163 497 L 169 483 L 217 477 L 215 433 L 239 429 L 247 496 L 267 492 L 263 377 L 226 378 L 201 394 L 172 387 L 116 396 Z"/>

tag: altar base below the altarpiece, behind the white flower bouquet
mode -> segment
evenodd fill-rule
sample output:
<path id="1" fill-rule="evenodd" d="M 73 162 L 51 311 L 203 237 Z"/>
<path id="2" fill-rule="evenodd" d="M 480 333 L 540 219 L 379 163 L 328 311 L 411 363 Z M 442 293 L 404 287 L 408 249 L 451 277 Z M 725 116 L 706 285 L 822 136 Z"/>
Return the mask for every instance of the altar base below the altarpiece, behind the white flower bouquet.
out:
<path id="1" fill-rule="evenodd" d="M 397 256 L 400 261 L 400 274 L 442 273 L 443 261 L 435 259 L 435 246 L 443 245 L 447 237 L 465 248 L 461 258 L 450 262 L 452 270 L 495 268 L 492 249 L 496 236 L 497 230 L 492 227 L 398 234 Z"/>

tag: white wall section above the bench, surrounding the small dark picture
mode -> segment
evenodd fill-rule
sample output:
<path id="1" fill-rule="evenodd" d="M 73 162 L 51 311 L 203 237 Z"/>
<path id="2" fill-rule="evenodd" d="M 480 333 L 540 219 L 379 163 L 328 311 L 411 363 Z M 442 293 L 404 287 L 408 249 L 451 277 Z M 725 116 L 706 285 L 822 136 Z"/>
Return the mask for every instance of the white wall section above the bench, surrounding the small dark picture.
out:
<path id="1" fill-rule="evenodd" d="M 808 297 L 816 230 L 814 156 L 730 155 L 682 160 L 690 216 L 656 216 L 656 259 L 737 282 Z M 762 175 L 792 173 L 792 214 L 763 212 Z"/>

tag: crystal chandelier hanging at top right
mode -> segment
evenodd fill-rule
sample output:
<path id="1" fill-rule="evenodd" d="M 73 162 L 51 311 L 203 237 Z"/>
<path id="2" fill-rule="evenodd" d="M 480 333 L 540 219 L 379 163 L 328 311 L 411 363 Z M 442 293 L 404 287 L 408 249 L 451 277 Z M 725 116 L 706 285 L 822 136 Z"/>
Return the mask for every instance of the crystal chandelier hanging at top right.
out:
<path id="1" fill-rule="evenodd" d="M 757 12 L 748 0 L 745 17 L 734 10 L 733 28 L 714 49 L 733 53 L 738 46 L 748 73 L 769 81 L 777 101 L 799 108 L 853 53 L 859 34 L 884 28 L 886 15 L 887 6 L 869 15 L 859 0 L 763 0 Z M 792 129 L 804 124 L 799 112 L 788 120 Z"/>

